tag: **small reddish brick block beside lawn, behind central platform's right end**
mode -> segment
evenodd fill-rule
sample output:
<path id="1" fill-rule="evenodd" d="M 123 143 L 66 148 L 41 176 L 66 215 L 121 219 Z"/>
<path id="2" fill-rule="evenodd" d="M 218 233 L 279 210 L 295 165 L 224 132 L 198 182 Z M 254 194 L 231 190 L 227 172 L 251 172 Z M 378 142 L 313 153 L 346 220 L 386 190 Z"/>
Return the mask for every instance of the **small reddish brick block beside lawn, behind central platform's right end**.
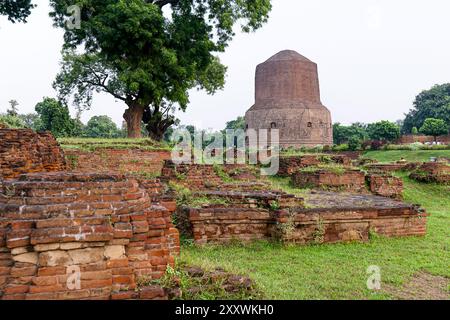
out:
<path id="1" fill-rule="evenodd" d="M 390 174 L 371 173 L 366 176 L 370 192 L 373 194 L 402 199 L 403 198 L 403 180 Z"/>

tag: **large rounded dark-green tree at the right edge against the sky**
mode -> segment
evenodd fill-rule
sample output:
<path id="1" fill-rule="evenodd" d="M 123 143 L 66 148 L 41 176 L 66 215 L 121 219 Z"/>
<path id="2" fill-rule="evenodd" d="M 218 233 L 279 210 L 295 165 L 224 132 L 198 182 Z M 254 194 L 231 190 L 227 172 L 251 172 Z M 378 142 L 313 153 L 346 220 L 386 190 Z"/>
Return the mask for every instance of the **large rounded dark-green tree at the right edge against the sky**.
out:
<path id="1" fill-rule="evenodd" d="M 421 92 L 414 101 L 414 108 L 406 115 L 402 132 L 412 133 L 421 128 L 428 118 L 441 119 L 450 129 L 450 83 L 436 85 Z"/>

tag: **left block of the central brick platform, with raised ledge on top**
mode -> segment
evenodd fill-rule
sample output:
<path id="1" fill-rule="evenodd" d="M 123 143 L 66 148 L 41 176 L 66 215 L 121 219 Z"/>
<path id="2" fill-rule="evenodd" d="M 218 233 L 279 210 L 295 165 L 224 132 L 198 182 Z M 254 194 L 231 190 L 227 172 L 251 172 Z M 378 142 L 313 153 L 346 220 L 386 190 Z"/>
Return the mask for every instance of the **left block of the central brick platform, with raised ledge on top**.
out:
<path id="1" fill-rule="evenodd" d="M 202 191 L 194 196 L 225 202 L 178 210 L 180 230 L 199 244 L 267 238 L 273 210 L 303 207 L 302 198 L 281 191 Z"/>

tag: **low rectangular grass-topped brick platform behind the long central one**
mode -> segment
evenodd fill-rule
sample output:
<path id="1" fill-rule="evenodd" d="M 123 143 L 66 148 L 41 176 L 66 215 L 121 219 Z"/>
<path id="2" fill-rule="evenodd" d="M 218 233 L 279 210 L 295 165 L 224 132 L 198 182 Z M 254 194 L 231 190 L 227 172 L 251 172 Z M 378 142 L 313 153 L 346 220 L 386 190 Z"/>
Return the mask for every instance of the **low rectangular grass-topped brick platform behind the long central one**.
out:
<path id="1" fill-rule="evenodd" d="M 292 183 L 298 188 L 366 192 L 365 174 L 357 169 L 344 169 L 342 173 L 320 168 L 312 172 L 298 171 L 292 175 Z"/>

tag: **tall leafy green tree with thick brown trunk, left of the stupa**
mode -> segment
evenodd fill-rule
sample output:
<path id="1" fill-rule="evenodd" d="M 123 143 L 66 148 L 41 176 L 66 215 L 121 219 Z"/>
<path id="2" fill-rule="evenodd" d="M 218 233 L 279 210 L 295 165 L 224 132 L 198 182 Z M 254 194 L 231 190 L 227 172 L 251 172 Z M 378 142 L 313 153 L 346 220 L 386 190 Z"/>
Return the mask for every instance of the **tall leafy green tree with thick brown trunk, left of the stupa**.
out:
<path id="1" fill-rule="evenodd" d="M 161 139 L 185 110 L 188 91 L 209 94 L 224 86 L 226 67 L 215 56 L 234 36 L 268 18 L 270 0 L 85 0 L 81 27 L 65 26 L 72 0 L 51 0 L 56 25 L 65 28 L 63 68 L 55 87 L 89 107 L 94 92 L 127 105 L 128 136 L 141 136 L 141 122 Z M 167 10 L 166 10 L 167 9 Z M 76 53 L 82 47 L 84 51 Z M 79 52 L 79 51 L 78 51 Z"/>

